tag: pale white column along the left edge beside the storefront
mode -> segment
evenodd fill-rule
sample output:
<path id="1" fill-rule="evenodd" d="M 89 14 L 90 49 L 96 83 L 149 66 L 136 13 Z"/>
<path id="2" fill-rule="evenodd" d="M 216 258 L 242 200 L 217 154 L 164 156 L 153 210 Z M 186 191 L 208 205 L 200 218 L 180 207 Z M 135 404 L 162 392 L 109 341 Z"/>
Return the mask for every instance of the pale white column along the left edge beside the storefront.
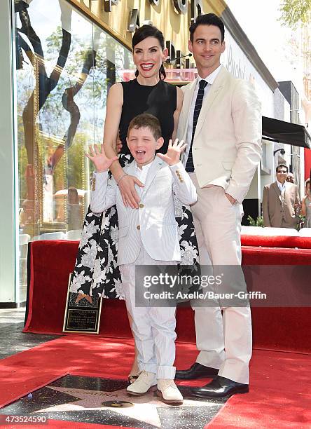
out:
<path id="1" fill-rule="evenodd" d="M 18 259 L 15 240 L 15 189 L 18 177 L 14 144 L 12 1 L 1 1 L 0 13 L 0 306 L 18 302 Z M 17 210 L 17 209 L 16 209 Z"/>

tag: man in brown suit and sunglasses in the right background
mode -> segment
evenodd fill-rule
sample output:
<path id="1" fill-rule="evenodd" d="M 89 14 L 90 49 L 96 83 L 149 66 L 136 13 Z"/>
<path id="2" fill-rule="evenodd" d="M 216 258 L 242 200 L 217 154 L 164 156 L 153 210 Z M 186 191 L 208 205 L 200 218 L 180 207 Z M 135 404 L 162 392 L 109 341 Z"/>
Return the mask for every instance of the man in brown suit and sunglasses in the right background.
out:
<path id="1" fill-rule="evenodd" d="M 277 165 L 277 180 L 263 188 L 263 224 L 276 228 L 296 228 L 300 207 L 298 186 L 287 182 L 289 169 L 284 164 Z"/>

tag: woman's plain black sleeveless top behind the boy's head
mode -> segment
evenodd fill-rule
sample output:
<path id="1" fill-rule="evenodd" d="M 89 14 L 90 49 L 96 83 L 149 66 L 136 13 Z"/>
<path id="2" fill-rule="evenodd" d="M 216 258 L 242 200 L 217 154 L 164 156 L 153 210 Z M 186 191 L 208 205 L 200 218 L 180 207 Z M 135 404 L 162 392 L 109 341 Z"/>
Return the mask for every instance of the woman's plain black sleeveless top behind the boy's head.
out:
<path id="1" fill-rule="evenodd" d="M 174 111 L 177 107 L 177 88 L 170 83 L 159 81 L 155 86 L 144 86 L 134 79 L 122 82 L 123 107 L 119 125 L 119 137 L 122 141 L 121 154 L 130 154 L 127 147 L 127 128 L 134 116 L 142 113 L 154 115 L 160 121 L 163 147 L 158 152 L 166 154 L 169 140 L 174 131 Z"/>

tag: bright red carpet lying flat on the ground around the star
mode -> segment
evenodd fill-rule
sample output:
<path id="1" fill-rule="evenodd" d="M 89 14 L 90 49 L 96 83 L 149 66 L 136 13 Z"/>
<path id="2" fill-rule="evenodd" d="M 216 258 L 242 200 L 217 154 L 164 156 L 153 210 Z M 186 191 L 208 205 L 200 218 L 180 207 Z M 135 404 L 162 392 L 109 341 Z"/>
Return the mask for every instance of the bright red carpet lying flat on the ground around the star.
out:
<path id="1" fill-rule="evenodd" d="M 187 367 L 195 355 L 194 345 L 177 344 L 177 367 Z M 125 379 L 132 358 L 133 344 L 128 339 L 71 335 L 49 341 L 1 360 L 0 404 L 3 407 L 68 373 Z M 122 362 L 119 367 L 118 362 Z M 255 350 L 251 360 L 251 392 L 230 398 L 209 428 L 310 428 L 310 376 L 310 355 Z M 51 421 L 49 425 L 74 427 L 67 422 L 64 426 L 57 423 Z"/>

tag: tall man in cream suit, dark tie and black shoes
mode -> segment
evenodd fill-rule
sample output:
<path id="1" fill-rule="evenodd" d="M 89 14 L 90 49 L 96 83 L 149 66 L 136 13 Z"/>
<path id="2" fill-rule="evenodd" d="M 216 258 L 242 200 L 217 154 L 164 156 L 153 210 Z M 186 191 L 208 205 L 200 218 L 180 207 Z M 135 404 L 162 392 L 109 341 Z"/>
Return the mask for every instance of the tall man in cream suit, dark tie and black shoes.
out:
<path id="1" fill-rule="evenodd" d="M 220 64 L 225 50 L 220 18 L 200 15 L 190 32 L 188 47 L 199 76 L 182 88 L 177 136 L 188 144 L 183 162 L 198 191 L 191 211 L 200 264 L 240 266 L 242 200 L 261 159 L 261 104 L 249 82 L 235 79 Z M 177 371 L 176 378 L 216 377 L 192 389 L 200 397 L 248 392 L 249 306 L 192 306 L 200 353 L 190 369 Z"/>

